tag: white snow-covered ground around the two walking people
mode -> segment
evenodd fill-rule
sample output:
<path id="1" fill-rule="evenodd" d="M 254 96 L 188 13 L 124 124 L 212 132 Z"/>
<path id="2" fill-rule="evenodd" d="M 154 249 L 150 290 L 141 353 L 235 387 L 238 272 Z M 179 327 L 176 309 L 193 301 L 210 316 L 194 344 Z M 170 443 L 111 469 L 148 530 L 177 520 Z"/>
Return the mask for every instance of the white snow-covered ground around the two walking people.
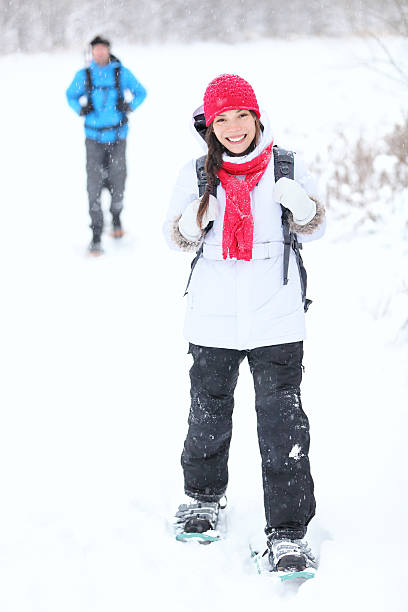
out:
<path id="1" fill-rule="evenodd" d="M 388 305 L 402 241 L 345 234 L 331 211 L 327 236 L 305 249 L 315 301 L 303 402 L 318 502 L 309 540 L 321 564 L 290 595 L 248 560 L 264 517 L 246 364 L 229 536 L 205 547 L 169 533 L 182 496 L 190 257 L 169 252 L 161 234 L 176 172 L 200 153 L 190 113 L 217 74 L 248 78 L 276 140 L 310 159 L 338 126 L 375 134 L 392 125 L 402 90 L 359 65 L 366 47 L 353 40 L 114 52 L 148 98 L 131 119 L 128 233 L 106 237 L 99 259 L 86 256 L 84 138 L 65 101 L 81 55 L 0 60 L 1 612 L 406 610 L 406 301 Z"/>

